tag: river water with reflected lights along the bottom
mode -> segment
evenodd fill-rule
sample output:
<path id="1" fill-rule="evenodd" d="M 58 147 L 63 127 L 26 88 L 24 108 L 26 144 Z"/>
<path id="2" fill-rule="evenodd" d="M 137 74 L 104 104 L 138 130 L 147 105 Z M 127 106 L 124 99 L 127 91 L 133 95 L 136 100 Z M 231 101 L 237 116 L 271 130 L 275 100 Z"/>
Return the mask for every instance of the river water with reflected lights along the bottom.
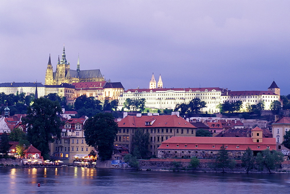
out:
<path id="1" fill-rule="evenodd" d="M 0 193 L 289 193 L 290 174 L 6 167 L 0 185 Z"/>

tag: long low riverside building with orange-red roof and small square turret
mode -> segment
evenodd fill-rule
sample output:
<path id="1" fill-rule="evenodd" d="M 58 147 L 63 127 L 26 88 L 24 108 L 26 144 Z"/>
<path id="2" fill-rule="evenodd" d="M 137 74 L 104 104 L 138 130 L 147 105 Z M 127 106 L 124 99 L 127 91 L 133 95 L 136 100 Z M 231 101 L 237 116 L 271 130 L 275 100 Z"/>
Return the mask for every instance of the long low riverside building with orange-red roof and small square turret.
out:
<path id="1" fill-rule="evenodd" d="M 255 127 L 252 137 L 171 137 L 158 148 L 158 158 L 212 158 L 224 145 L 230 157 L 240 158 L 249 147 L 254 155 L 264 149 L 276 150 L 275 138 L 263 138 L 263 130 Z"/>

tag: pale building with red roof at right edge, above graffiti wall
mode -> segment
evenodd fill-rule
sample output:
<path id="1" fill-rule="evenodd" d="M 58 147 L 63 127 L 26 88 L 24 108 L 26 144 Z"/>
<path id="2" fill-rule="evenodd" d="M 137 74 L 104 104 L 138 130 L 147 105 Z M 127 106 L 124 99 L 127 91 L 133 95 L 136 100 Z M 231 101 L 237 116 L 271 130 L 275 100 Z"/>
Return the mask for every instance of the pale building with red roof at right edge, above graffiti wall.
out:
<path id="1" fill-rule="evenodd" d="M 273 137 L 276 138 L 278 143 L 282 143 L 284 139 L 284 135 L 290 129 L 290 117 L 283 116 L 278 119 L 275 117 L 275 122 L 272 123 L 272 134 Z"/>

